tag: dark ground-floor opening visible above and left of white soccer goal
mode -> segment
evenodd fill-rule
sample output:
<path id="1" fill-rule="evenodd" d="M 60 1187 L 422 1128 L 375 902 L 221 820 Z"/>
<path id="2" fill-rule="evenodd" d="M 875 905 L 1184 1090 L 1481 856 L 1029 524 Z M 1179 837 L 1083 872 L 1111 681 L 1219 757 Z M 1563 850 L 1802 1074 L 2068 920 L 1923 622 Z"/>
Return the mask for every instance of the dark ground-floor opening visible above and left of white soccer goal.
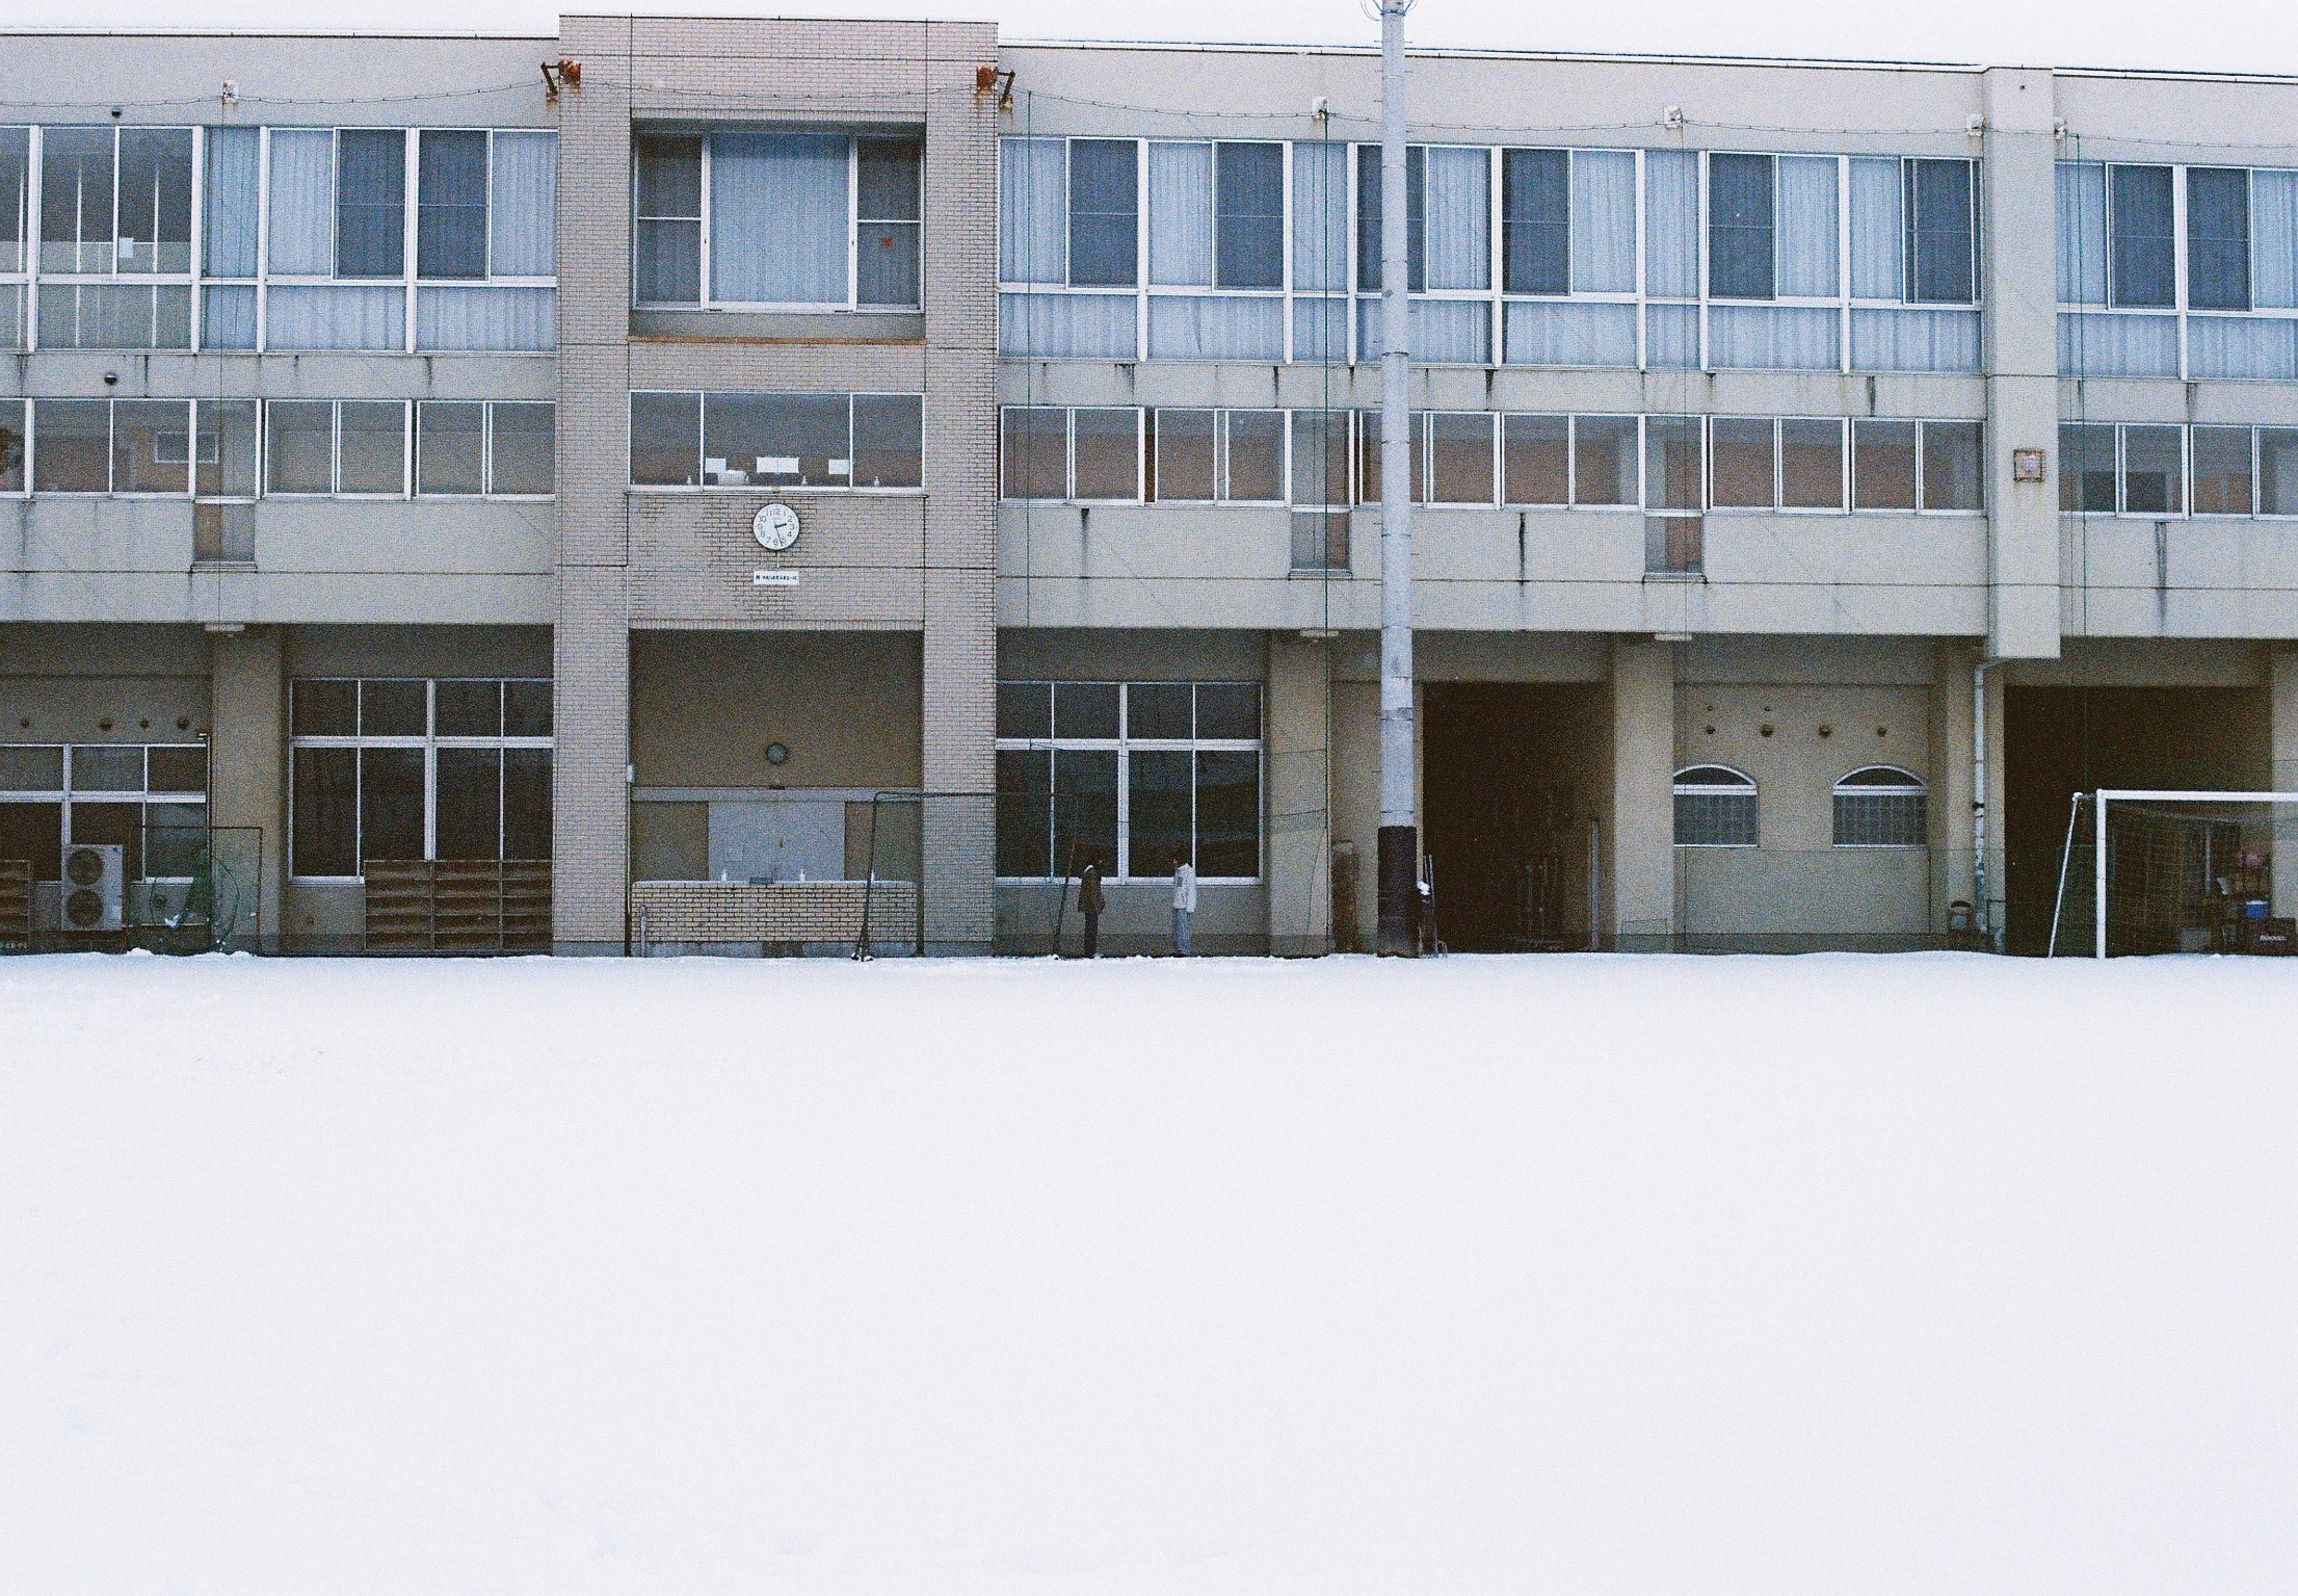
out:
<path id="1" fill-rule="evenodd" d="M 2268 784 L 2264 688 L 2011 688 L 2004 743 L 2004 941 L 2022 954 L 2050 945 L 2077 791 Z M 2077 885 L 2089 924 L 2087 883 Z"/>

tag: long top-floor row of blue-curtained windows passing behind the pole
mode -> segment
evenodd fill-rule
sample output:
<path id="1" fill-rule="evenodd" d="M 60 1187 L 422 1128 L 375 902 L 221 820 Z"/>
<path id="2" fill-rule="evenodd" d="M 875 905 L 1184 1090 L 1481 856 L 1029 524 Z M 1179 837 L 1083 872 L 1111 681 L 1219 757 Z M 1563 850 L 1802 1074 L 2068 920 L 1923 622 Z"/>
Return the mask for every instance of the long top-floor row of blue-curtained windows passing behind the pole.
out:
<path id="1" fill-rule="evenodd" d="M 1000 347 L 1374 359 L 1377 156 L 1009 138 Z M 1416 145 L 1406 212 L 1422 361 L 1976 370 L 1969 161 Z"/>

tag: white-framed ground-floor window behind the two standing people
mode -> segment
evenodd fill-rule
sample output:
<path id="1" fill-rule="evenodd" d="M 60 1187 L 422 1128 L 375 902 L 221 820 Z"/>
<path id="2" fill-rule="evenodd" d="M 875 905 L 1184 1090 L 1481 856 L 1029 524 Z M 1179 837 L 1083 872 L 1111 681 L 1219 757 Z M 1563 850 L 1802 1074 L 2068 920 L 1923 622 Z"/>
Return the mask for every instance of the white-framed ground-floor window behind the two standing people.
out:
<path id="1" fill-rule="evenodd" d="M 997 874 L 1262 874 L 1259 683 L 997 683 Z"/>

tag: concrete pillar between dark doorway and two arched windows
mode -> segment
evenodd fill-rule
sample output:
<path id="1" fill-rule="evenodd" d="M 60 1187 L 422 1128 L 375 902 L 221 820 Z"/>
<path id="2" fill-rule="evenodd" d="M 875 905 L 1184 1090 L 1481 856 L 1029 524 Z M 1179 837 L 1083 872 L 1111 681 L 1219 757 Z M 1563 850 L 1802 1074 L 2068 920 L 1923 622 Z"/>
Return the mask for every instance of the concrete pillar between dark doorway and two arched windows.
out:
<path id="1" fill-rule="evenodd" d="M 1611 646 L 1611 922 L 1622 952 L 1675 936 L 1675 653 L 1650 637 Z"/>

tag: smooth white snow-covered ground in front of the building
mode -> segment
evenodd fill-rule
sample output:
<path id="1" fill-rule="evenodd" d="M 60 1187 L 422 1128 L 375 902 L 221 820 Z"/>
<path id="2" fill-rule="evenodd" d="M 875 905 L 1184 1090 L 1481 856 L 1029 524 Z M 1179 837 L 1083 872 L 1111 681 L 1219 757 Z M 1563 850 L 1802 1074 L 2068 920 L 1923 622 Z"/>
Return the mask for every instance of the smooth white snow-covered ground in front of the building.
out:
<path id="1" fill-rule="evenodd" d="M 0 961 L 0 1589 L 2298 1589 L 2298 959 Z"/>

